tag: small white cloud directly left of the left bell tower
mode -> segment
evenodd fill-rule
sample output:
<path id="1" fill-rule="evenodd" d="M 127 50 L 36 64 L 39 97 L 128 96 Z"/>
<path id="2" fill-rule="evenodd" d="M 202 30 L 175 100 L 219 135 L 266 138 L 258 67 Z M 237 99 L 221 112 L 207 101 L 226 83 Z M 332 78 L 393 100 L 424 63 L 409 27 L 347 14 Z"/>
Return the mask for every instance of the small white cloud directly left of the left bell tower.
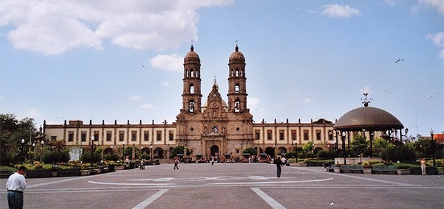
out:
<path id="1" fill-rule="evenodd" d="M 157 55 L 150 60 L 150 65 L 167 71 L 182 71 L 184 57 L 177 53 L 172 55 Z"/>

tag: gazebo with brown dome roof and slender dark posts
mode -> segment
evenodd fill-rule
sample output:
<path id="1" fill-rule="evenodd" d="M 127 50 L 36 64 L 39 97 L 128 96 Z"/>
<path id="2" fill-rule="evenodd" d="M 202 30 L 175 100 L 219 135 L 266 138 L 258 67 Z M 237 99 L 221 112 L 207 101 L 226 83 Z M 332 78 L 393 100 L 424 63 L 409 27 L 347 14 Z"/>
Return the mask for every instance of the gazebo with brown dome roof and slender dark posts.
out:
<path id="1" fill-rule="evenodd" d="M 365 94 L 364 94 L 365 95 Z M 373 157 L 373 131 L 392 131 L 394 133 L 396 130 L 400 130 L 400 140 L 402 142 L 402 129 L 404 126 L 395 118 L 391 113 L 384 111 L 376 107 L 368 107 L 369 102 L 363 102 L 364 107 L 359 107 L 357 109 L 352 109 L 345 113 L 339 120 L 334 124 L 333 129 L 336 131 L 336 146 L 338 144 L 338 135 L 342 139 L 342 149 L 345 150 L 345 136 L 348 137 L 350 141 L 350 131 L 361 131 L 364 133 L 369 131 L 370 135 L 370 157 Z M 406 129 L 407 134 L 408 129 Z M 350 143 L 349 143 L 350 145 Z M 336 147 L 337 148 L 337 147 Z M 344 155 L 344 164 L 345 155 Z"/>

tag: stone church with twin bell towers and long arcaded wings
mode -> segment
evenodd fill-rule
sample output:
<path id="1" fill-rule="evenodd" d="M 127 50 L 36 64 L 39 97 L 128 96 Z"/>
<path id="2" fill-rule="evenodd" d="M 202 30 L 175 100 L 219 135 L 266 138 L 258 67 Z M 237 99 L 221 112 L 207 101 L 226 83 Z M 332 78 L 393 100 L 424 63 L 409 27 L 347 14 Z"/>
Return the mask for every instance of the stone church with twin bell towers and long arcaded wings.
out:
<path id="1" fill-rule="evenodd" d="M 103 154 L 118 153 L 124 146 L 142 149 L 154 158 L 169 158 L 171 149 L 185 146 L 191 157 L 237 158 L 246 148 L 275 156 L 291 152 L 296 146 L 313 143 L 316 149 L 326 149 L 336 143 L 333 123 L 318 120 L 298 122 L 255 122 L 247 105 L 246 62 L 236 46 L 228 60 L 228 98 L 223 100 L 214 80 L 212 91 L 202 102 L 200 58 L 191 45 L 184 59 L 182 108 L 176 122 L 160 124 L 83 124 L 69 120 L 63 125 L 46 125 L 44 134 L 50 140 L 65 140 L 69 147 L 103 146 Z M 135 156 L 133 156 L 135 157 Z"/>

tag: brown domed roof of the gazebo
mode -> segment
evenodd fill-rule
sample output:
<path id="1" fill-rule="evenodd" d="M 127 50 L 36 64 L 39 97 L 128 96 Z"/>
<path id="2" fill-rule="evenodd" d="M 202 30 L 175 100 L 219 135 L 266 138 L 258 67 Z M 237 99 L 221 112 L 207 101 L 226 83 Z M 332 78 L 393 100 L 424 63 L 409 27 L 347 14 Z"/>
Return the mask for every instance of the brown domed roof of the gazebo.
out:
<path id="1" fill-rule="evenodd" d="M 404 126 L 398 118 L 387 111 L 375 107 L 359 107 L 341 116 L 333 128 L 347 131 L 361 131 L 362 129 L 385 131 L 402 129 Z"/>

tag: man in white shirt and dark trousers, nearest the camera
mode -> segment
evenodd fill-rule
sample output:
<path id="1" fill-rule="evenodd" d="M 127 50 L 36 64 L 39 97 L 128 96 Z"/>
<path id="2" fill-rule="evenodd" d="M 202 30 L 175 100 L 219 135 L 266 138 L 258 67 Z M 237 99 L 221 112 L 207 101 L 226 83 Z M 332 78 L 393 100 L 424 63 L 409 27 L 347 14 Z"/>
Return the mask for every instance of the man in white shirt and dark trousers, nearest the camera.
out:
<path id="1" fill-rule="evenodd" d="M 23 208 L 23 192 L 25 191 L 26 182 L 24 173 L 26 167 L 20 166 L 17 172 L 11 174 L 6 181 L 6 190 L 8 191 L 8 206 L 10 209 Z"/>

